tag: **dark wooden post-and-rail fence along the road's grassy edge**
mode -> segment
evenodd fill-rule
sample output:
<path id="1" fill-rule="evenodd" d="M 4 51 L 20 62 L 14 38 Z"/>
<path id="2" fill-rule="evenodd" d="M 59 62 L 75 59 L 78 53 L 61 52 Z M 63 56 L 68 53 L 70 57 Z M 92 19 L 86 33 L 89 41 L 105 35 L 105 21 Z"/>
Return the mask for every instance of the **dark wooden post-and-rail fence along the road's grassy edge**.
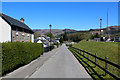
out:
<path id="1" fill-rule="evenodd" d="M 84 58 L 86 58 L 88 61 L 90 61 L 90 62 L 92 62 L 93 64 L 95 64 L 95 67 L 97 66 L 97 67 L 99 67 L 100 69 L 102 69 L 103 71 L 105 71 L 105 75 L 109 74 L 109 75 L 112 76 L 113 78 L 115 78 L 115 79 L 117 79 L 117 80 L 120 80 L 120 77 L 118 77 L 118 76 L 116 76 L 115 74 L 113 74 L 113 73 L 111 73 L 110 71 L 108 71 L 108 64 L 110 64 L 110 65 L 112 65 L 112 66 L 114 66 L 114 67 L 116 67 L 116 68 L 118 68 L 118 69 L 120 69 L 120 65 L 108 61 L 108 60 L 107 60 L 107 57 L 105 57 L 105 59 L 100 58 L 100 57 L 97 57 L 97 54 L 96 54 L 96 53 L 95 53 L 95 55 L 93 55 L 93 54 L 91 54 L 91 53 L 89 53 L 89 52 L 86 52 L 86 51 L 84 51 L 84 50 L 81 50 L 81 49 L 78 49 L 78 48 L 75 48 L 75 47 L 72 47 L 72 46 L 70 46 L 69 48 L 71 48 L 72 50 L 74 50 L 76 53 L 78 53 L 79 55 L 83 56 Z M 81 54 L 81 52 L 83 52 L 83 54 Z M 80 56 L 79 56 L 78 54 L 76 54 L 76 53 L 75 53 L 75 55 L 80 58 Z M 86 57 L 85 54 L 87 54 L 88 57 Z M 94 57 L 94 58 L 95 58 L 95 61 L 90 60 L 90 59 L 89 59 L 89 55 L 92 56 L 92 57 Z M 87 64 L 82 58 L 80 58 L 80 59 L 81 59 L 85 64 Z M 102 66 L 100 66 L 99 64 L 97 64 L 97 59 L 105 62 L 105 68 L 103 68 Z M 90 66 L 89 64 L 87 64 L 87 65 Z M 91 66 L 90 66 L 90 67 L 91 67 Z M 91 67 L 91 68 L 92 68 L 92 67 Z M 94 70 L 94 69 L 92 68 L 92 70 Z M 101 79 L 103 79 L 98 73 L 96 73 L 96 75 L 98 75 Z"/>

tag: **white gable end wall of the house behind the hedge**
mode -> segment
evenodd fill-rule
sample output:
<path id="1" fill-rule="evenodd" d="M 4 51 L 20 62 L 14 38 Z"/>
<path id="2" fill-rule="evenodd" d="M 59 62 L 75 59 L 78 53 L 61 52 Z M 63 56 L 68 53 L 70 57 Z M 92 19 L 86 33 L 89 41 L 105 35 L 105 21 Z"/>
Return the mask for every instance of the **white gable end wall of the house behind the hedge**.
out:
<path id="1" fill-rule="evenodd" d="M 0 17 L 0 42 L 11 42 L 11 26 Z"/>

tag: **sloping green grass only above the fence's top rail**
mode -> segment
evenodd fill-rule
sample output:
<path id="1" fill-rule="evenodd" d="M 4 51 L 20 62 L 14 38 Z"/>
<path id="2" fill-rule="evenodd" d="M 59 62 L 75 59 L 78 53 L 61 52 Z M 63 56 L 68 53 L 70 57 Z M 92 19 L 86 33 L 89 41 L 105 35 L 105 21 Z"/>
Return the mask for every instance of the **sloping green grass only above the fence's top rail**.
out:
<path id="1" fill-rule="evenodd" d="M 73 47 L 85 50 L 92 54 L 97 53 L 98 57 L 105 58 L 118 64 L 118 42 L 93 42 L 81 41 Z"/>

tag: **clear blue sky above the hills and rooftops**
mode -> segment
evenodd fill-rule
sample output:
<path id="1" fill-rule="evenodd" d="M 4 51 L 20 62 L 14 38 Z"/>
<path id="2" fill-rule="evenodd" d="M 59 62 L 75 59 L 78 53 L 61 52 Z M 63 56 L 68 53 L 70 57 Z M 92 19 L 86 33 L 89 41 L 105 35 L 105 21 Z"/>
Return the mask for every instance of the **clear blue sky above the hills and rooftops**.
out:
<path id="1" fill-rule="evenodd" d="M 118 25 L 117 2 L 3 2 L 2 13 L 25 19 L 31 29 L 98 29 Z"/>

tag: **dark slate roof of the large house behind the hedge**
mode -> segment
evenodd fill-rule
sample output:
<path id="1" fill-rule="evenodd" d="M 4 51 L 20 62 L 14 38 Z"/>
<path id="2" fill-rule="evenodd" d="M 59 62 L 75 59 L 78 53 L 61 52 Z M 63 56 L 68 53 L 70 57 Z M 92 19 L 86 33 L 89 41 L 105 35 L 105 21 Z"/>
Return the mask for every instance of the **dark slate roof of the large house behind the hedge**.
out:
<path id="1" fill-rule="evenodd" d="M 19 27 L 19 28 L 23 28 L 23 29 L 29 30 L 30 32 L 34 33 L 26 24 L 24 24 L 23 22 L 21 22 L 17 19 L 14 19 L 10 16 L 7 16 L 3 13 L 2 13 L 2 18 L 11 26 L 16 26 L 16 27 Z"/>

